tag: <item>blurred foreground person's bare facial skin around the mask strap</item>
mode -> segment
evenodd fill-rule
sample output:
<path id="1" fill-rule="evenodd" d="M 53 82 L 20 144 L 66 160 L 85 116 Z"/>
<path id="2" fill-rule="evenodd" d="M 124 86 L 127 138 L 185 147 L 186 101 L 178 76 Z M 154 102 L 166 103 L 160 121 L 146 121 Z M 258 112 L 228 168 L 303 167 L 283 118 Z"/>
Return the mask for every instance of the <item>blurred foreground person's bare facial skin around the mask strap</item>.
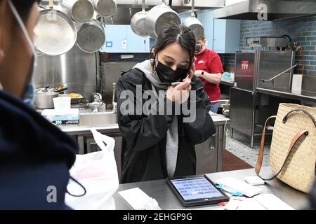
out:
<path id="1" fill-rule="evenodd" d="M 34 53 L 22 31 L 18 18 L 13 13 L 9 0 L 0 0 L 0 49 L 3 57 L 0 61 L 0 82 L 4 90 L 23 97 L 29 80 L 32 78 Z M 29 38 L 33 39 L 33 30 L 39 18 L 37 2 L 29 10 L 22 25 L 25 26 Z M 15 9 L 15 6 L 14 10 Z M 20 15 L 18 15 L 20 17 Z M 4 47 L 3 47 L 4 45 Z M 31 72 L 30 72 L 31 71 Z"/>

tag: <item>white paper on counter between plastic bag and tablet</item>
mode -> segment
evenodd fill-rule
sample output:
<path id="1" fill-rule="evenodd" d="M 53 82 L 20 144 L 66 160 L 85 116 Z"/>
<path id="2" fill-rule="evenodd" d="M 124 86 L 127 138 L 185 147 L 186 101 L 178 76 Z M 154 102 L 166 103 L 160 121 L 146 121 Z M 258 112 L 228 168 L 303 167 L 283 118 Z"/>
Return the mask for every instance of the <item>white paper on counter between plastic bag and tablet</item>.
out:
<path id="1" fill-rule="evenodd" d="M 119 195 L 135 210 L 161 210 L 156 200 L 140 188 L 119 191 Z"/>

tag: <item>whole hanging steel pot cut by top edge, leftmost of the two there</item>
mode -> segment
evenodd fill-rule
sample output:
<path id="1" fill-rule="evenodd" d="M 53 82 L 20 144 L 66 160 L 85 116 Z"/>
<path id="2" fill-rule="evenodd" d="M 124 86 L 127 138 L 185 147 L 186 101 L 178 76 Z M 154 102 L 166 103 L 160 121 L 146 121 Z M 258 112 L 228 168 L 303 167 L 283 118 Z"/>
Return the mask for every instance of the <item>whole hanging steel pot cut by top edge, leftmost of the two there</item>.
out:
<path id="1" fill-rule="evenodd" d="M 94 8 L 90 0 L 62 0 L 61 6 L 75 22 L 88 22 L 93 17 Z"/>

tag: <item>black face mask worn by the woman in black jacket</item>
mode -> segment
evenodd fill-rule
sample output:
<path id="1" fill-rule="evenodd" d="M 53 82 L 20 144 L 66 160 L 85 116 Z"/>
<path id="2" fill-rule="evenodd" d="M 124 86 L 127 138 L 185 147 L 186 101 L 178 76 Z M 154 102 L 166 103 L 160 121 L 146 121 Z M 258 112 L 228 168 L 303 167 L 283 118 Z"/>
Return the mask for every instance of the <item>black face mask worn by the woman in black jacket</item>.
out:
<path id="1" fill-rule="evenodd" d="M 162 83 L 173 83 L 177 80 L 183 80 L 187 77 L 187 69 L 177 69 L 174 71 L 169 66 L 166 66 L 158 61 L 156 72 Z"/>

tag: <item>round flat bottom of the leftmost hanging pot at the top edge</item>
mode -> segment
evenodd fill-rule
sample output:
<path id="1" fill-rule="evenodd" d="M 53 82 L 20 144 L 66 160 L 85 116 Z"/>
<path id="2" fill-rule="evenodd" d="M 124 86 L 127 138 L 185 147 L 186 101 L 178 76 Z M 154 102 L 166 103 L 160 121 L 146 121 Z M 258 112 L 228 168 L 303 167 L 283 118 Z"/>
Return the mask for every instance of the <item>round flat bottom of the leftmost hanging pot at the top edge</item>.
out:
<path id="1" fill-rule="evenodd" d="M 91 20 L 94 14 L 94 8 L 91 1 L 88 0 L 78 0 L 74 3 L 72 7 L 72 16 L 78 22 L 87 22 Z"/>

